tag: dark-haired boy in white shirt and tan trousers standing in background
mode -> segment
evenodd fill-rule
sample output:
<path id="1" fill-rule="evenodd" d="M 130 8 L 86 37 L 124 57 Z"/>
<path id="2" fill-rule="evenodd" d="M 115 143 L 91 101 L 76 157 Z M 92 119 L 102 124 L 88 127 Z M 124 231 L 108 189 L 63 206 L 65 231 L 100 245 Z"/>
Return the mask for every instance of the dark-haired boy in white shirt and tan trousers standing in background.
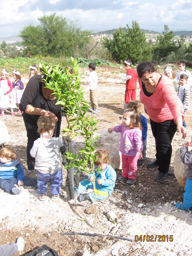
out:
<path id="1" fill-rule="evenodd" d="M 96 65 L 95 63 L 90 63 L 88 67 L 89 67 L 90 75 L 88 78 L 86 78 L 86 82 L 88 84 L 87 88 L 90 91 L 90 101 L 91 101 L 91 107 L 92 107 L 89 109 L 89 112 L 92 112 L 93 114 L 97 114 L 100 112 L 100 109 L 96 100 L 97 83 L 98 83 L 97 73 L 95 72 Z"/>

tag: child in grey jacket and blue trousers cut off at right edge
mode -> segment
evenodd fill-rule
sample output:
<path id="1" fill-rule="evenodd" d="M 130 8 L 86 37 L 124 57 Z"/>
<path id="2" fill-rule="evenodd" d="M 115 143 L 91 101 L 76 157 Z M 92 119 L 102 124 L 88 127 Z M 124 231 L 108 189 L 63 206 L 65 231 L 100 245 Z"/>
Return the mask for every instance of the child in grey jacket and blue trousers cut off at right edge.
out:
<path id="1" fill-rule="evenodd" d="M 183 146 L 180 148 L 181 162 L 185 165 L 188 165 L 188 170 L 185 185 L 185 193 L 183 193 L 183 203 L 175 204 L 175 206 L 178 209 L 181 209 L 186 212 L 188 212 L 192 207 L 192 150 L 188 151 L 188 146 L 192 147 L 192 138 L 190 143 L 185 142 Z"/>

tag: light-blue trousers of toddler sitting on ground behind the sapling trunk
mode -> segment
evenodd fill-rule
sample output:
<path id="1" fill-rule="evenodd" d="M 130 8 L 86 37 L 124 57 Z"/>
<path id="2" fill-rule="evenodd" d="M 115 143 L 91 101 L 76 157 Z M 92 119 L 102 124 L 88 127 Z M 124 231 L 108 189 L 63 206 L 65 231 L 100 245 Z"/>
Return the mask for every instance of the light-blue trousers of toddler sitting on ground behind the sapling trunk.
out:
<path id="1" fill-rule="evenodd" d="M 97 181 L 96 181 L 96 182 L 97 182 Z M 82 193 L 83 191 L 85 191 L 87 188 L 92 188 L 92 189 L 93 189 L 93 182 L 89 181 L 88 179 L 82 180 L 82 181 L 79 183 L 78 189 L 77 189 L 77 188 L 76 188 L 76 189 L 77 189 L 78 193 L 81 194 L 81 193 Z M 108 197 L 110 196 L 110 194 L 111 194 L 110 192 L 112 192 L 111 190 L 109 191 L 109 190 L 106 189 L 106 188 L 100 188 L 100 189 L 98 189 L 98 190 L 108 193 L 108 196 L 98 195 L 98 196 L 96 196 L 96 199 L 97 199 L 97 200 L 104 200 L 104 199 L 108 198 Z M 93 193 L 93 192 L 89 194 L 89 197 L 90 197 L 91 201 L 94 202 L 94 193 Z"/>

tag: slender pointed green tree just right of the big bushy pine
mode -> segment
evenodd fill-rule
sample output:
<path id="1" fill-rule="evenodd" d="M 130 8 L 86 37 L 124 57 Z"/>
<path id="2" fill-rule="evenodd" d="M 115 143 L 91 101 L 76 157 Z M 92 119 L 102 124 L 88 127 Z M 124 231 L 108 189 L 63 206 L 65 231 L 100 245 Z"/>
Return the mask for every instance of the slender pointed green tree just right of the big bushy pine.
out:
<path id="1" fill-rule="evenodd" d="M 176 42 L 173 40 L 173 31 L 169 31 L 164 25 L 163 35 L 157 36 L 156 43 L 152 46 L 152 60 L 158 64 L 165 62 L 171 52 L 177 50 Z"/>

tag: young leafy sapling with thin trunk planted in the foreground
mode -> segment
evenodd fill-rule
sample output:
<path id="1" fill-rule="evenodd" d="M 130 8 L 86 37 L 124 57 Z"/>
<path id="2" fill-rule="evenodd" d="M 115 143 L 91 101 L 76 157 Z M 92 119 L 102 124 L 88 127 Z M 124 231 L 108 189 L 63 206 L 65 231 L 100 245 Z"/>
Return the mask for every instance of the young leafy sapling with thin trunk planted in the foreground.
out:
<path id="1" fill-rule="evenodd" d="M 58 99 L 57 105 L 61 105 L 65 114 L 69 116 L 69 124 L 67 128 L 63 128 L 63 132 L 67 132 L 67 136 L 73 139 L 75 136 L 82 136 L 85 140 L 85 146 L 79 150 L 81 157 L 78 154 L 71 154 L 66 152 L 66 158 L 71 159 L 71 164 L 66 163 L 65 168 L 76 168 L 77 173 L 87 172 L 93 174 L 93 192 L 94 192 L 94 216 L 96 228 L 97 220 L 97 205 L 96 196 L 100 191 L 95 188 L 95 176 L 94 176 L 94 162 L 95 162 L 95 149 L 98 147 L 97 136 L 94 136 L 97 130 L 97 122 L 92 115 L 88 115 L 88 109 L 91 108 L 85 97 L 83 87 L 81 87 L 81 77 L 78 73 L 79 64 L 76 59 L 71 57 L 71 67 L 74 74 L 70 74 L 70 68 L 61 69 L 56 67 L 45 67 L 43 65 L 43 71 L 46 75 L 46 79 L 42 80 L 45 83 L 45 88 L 49 88 L 53 91 L 53 95 Z M 47 80 L 48 78 L 48 80 Z M 97 172 L 101 172 L 100 168 Z"/>

